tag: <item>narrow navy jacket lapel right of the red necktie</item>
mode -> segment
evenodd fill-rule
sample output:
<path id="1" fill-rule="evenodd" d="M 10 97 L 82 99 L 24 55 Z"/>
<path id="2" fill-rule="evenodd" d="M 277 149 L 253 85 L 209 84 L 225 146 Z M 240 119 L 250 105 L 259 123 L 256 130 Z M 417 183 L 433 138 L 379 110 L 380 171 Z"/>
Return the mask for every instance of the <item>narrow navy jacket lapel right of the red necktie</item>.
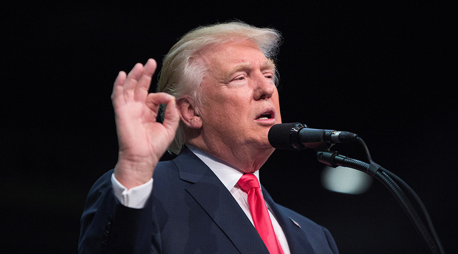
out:
<path id="1" fill-rule="evenodd" d="M 292 218 L 282 213 L 266 189 L 262 186 L 261 188 L 263 190 L 264 199 L 275 214 L 275 218 L 287 238 L 291 253 L 314 253 L 313 248 L 310 245 L 304 231 L 300 228 L 300 225 Z"/>

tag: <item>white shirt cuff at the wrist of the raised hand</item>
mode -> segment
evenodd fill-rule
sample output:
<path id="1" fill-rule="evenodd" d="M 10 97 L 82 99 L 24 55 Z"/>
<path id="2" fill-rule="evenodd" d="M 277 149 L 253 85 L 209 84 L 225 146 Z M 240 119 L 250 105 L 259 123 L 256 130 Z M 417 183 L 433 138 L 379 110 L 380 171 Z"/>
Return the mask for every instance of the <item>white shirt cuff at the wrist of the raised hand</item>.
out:
<path id="1" fill-rule="evenodd" d="M 153 178 L 144 184 L 127 189 L 118 181 L 118 179 L 116 179 L 115 174 L 113 173 L 111 174 L 111 185 L 113 187 L 113 191 L 115 192 L 115 197 L 122 205 L 130 208 L 141 209 L 145 207 L 145 204 L 151 195 L 151 190 L 153 189 Z"/>

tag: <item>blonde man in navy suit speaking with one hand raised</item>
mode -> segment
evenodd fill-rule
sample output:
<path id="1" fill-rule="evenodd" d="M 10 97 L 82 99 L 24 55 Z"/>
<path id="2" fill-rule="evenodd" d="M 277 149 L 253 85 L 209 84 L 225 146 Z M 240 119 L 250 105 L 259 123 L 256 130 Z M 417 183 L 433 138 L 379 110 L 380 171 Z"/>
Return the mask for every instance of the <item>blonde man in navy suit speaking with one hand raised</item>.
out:
<path id="1" fill-rule="evenodd" d="M 274 29 L 215 24 L 170 49 L 158 92 L 148 93 L 153 59 L 119 73 L 111 96 L 118 163 L 90 190 L 79 252 L 338 252 L 325 228 L 259 188 L 274 151 L 268 131 L 281 123 L 279 44 Z M 179 155 L 159 162 L 167 148 Z M 257 186 L 245 189 L 244 179 Z"/>

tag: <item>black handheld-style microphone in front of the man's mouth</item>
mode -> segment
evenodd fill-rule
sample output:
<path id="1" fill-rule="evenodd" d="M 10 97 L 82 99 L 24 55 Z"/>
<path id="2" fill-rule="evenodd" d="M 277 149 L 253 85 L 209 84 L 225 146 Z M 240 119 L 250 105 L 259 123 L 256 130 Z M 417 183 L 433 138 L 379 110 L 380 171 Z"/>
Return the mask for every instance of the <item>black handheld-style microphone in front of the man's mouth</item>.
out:
<path id="1" fill-rule="evenodd" d="M 277 149 L 303 150 L 323 148 L 328 144 L 356 141 L 358 135 L 335 130 L 310 129 L 298 122 L 273 125 L 268 134 L 269 143 Z"/>

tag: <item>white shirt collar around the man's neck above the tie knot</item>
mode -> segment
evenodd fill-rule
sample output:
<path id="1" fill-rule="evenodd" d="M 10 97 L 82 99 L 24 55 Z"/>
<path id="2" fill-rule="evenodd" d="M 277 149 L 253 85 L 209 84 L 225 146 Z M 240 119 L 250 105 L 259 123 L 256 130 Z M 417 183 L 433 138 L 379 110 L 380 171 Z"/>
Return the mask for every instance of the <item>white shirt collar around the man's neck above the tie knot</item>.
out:
<path id="1" fill-rule="evenodd" d="M 224 186 L 231 191 L 231 189 L 237 184 L 240 177 L 243 175 L 243 171 L 231 165 L 219 158 L 212 156 L 211 154 L 204 152 L 191 145 L 186 145 L 199 159 L 201 159 L 219 178 Z M 259 170 L 253 173 L 259 181 Z"/>

